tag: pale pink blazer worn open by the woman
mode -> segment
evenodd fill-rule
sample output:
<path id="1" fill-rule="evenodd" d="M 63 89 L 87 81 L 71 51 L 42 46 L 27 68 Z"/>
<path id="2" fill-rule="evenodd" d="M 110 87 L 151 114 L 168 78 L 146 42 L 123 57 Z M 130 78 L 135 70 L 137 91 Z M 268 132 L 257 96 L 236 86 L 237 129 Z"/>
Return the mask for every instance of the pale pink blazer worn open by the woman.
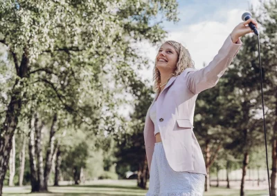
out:
<path id="1" fill-rule="evenodd" d="M 150 108 L 157 99 L 157 126 L 172 170 L 207 174 L 202 150 L 193 133 L 195 101 L 199 92 L 217 84 L 241 45 L 240 39 L 233 43 L 229 35 L 208 66 L 200 70 L 186 68 L 179 76 L 170 78 L 158 99 L 156 93 Z M 143 130 L 149 171 L 155 143 L 150 108 Z"/>

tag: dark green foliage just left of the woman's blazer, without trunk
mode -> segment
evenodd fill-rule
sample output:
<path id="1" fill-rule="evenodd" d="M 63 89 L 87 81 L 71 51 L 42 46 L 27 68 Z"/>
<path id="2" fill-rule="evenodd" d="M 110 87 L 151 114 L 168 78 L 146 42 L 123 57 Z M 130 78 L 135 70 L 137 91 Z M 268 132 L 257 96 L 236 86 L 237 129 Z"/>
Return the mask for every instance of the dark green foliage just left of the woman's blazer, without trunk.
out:
<path id="1" fill-rule="evenodd" d="M 142 84 L 140 89 L 141 93 L 137 99 L 139 101 L 134 104 L 134 113 L 131 115 L 129 126 L 125 128 L 124 133 L 121 133 L 120 139 L 116 140 L 118 141 L 117 172 L 122 178 L 125 177 L 127 168 L 132 171 L 139 170 L 139 164 L 143 163 L 145 159 L 143 128 L 145 115 L 152 102 L 152 89 L 142 86 Z"/>

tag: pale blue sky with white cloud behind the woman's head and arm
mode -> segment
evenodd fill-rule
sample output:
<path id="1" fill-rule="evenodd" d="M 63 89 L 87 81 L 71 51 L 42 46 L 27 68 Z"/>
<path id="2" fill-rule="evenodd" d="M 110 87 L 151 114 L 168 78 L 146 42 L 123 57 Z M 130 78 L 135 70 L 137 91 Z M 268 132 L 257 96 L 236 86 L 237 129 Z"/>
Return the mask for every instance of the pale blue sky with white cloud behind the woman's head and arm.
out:
<path id="1" fill-rule="evenodd" d="M 177 0 L 177 2 L 180 21 L 163 23 L 164 29 L 168 31 L 168 37 L 164 41 L 178 41 L 188 48 L 197 69 L 203 68 L 204 63 L 208 65 L 213 60 L 233 28 L 242 22 L 242 14 L 249 11 L 249 5 L 252 4 L 254 8 L 258 5 L 258 0 Z M 152 61 L 150 69 L 145 68 L 139 75 L 152 81 L 152 70 L 158 48 L 154 48 L 150 43 L 143 43 L 139 47 Z"/>

